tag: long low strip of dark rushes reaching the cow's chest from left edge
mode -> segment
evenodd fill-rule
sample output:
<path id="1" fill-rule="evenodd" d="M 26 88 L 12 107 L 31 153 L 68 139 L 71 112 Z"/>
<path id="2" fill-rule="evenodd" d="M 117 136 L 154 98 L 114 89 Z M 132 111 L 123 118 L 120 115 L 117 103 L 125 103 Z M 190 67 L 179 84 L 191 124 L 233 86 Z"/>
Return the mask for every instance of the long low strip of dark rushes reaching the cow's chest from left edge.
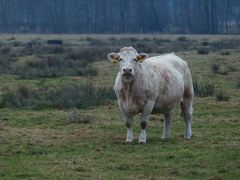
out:
<path id="1" fill-rule="evenodd" d="M 88 108 L 106 104 L 116 99 L 112 89 L 96 88 L 91 83 L 84 85 L 65 84 L 56 89 L 33 89 L 19 86 L 16 90 L 5 88 L 0 107 L 13 108 Z"/>

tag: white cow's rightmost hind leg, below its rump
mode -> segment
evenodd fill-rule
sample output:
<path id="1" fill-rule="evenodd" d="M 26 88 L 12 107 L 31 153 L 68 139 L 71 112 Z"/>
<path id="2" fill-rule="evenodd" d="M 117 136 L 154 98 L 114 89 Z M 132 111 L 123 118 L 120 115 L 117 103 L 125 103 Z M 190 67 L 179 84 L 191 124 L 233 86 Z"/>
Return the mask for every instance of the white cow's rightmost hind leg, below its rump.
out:
<path id="1" fill-rule="evenodd" d="M 183 101 L 181 102 L 181 111 L 182 116 L 185 120 L 185 132 L 184 138 L 191 139 L 192 137 L 192 98 L 190 97 L 183 97 Z"/>

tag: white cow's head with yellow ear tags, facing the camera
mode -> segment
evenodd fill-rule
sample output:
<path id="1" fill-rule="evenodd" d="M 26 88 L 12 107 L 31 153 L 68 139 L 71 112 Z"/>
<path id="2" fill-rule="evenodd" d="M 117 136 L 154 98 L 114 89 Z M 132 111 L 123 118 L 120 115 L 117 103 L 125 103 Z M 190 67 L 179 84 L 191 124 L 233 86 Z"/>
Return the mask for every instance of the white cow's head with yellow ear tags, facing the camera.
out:
<path id="1" fill-rule="evenodd" d="M 148 55 L 138 54 L 133 47 L 123 47 L 119 53 L 110 53 L 107 57 L 113 63 L 119 62 L 122 80 L 128 83 L 134 79 L 139 63 L 147 59 Z"/>

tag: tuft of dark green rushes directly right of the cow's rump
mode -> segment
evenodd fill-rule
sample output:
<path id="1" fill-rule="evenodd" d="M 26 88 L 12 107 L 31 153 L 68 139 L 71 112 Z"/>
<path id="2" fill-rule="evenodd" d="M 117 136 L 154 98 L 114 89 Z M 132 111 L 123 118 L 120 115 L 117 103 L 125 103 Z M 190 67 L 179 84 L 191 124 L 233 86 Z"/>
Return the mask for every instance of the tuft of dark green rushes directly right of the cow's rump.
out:
<path id="1" fill-rule="evenodd" d="M 193 89 L 195 96 L 207 97 L 213 96 L 215 87 L 209 81 L 193 81 Z"/>

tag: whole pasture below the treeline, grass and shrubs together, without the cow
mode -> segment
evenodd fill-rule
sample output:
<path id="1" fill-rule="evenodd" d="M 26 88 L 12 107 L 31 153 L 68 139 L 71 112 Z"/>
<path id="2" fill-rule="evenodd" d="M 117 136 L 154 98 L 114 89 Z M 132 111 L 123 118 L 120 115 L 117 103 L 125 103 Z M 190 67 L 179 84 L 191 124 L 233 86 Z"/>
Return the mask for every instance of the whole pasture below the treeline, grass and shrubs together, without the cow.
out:
<path id="1" fill-rule="evenodd" d="M 49 39 L 63 45 L 47 45 Z M 134 143 L 124 143 L 125 123 L 117 102 L 104 100 L 118 67 L 105 57 L 131 44 L 150 55 L 175 51 L 188 62 L 195 81 L 214 86 L 213 95 L 194 99 L 190 141 L 183 139 L 184 122 L 176 108 L 169 141 L 161 140 L 162 117 L 152 115 L 148 143 L 137 143 L 138 117 Z M 98 49 L 104 52 L 90 59 Z M 240 177 L 240 36 L 6 34 L 0 35 L 0 66 L 0 179 Z M 49 71 L 43 72 L 46 67 Z M 61 101 L 67 93 L 62 85 L 86 83 L 107 88 L 104 96 L 96 90 L 97 104 L 76 108 Z M 48 95 L 57 96 L 57 88 L 63 93 L 53 101 Z"/>

